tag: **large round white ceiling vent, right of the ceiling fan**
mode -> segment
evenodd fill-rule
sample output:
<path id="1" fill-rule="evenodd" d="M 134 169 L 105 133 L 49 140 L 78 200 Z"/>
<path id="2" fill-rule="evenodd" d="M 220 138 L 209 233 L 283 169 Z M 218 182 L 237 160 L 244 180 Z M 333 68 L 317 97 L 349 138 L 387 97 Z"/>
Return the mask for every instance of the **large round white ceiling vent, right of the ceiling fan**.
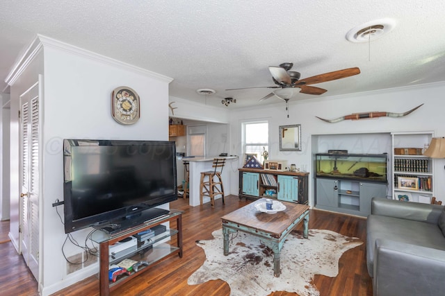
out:
<path id="1" fill-rule="evenodd" d="M 350 42 L 370 42 L 389 33 L 396 26 L 394 19 L 375 19 L 352 28 L 346 39 Z"/>

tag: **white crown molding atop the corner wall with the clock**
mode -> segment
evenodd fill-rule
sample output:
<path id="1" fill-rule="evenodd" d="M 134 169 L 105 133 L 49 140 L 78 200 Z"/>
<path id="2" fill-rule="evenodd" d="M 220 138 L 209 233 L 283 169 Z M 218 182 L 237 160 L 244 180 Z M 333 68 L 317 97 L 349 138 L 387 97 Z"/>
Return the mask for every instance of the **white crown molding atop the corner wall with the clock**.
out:
<path id="1" fill-rule="evenodd" d="M 162 82 L 170 83 L 173 80 L 173 78 L 170 78 L 168 76 L 163 76 L 159 73 L 155 73 L 140 67 L 136 67 L 131 64 L 115 60 L 113 58 L 108 58 L 104 55 L 100 55 L 99 53 L 87 51 L 86 49 L 81 49 L 80 47 L 73 46 L 65 42 L 60 42 L 50 37 L 38 34 L 35 36 L 31 44 L 26 48 L 22 57 L 19 58 L 17 63 L 14 65 L 13 69 L 10 71 L 10 74 L 8 75 L 8 77 L 6 77 L 5 82 L 8 83 L 8 85 L 13 85 L 15 80 L 17 80 L 20 74 L 24 71 L 24 69 L 26 69 L 26 67 L 33 60 L 33 58 L 35 58 L 35 55 L 37 55 L 37 53 L 42 48 L 58 49 L 60 51 L 65 51 L 73 55 L 79 55 L 83 58 L 88 58 L 90 60 L 95 60 L 105 64 L 110 64 L 113 67 L 120 67 L 121 69 L 124 69 L 126 71 L 132 71 L 134 73 L 138 73 L 143 76 L 147 76 L 149 78 L 154 78 Z"/>

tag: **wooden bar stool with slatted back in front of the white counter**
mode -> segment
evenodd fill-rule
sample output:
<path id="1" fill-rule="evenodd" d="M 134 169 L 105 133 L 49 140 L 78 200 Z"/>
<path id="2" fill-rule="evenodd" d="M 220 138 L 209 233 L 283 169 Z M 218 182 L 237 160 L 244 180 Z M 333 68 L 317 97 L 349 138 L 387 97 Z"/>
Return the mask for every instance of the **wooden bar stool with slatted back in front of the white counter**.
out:
<path id="1" fill-rule="evenodd" d="M 225 164 L 225 158 L 213 159 L 212 171 L 201 172 L 200 181 L 200 202 L 202 204 L 202 197 L 209 196 L 211 206 L 215 206 L 215 196 L 221 195 L 224 202 L 224 186 L 223 186 L 223 167 Z"/>

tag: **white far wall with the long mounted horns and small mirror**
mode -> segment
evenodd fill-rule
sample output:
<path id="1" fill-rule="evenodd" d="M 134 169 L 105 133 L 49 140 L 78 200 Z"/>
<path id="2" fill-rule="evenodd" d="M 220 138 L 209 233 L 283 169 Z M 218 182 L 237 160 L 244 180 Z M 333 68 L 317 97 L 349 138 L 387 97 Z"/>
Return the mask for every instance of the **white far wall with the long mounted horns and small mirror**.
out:
<path id="1" fill-rule="evenodd" d="M 312 147 L 312 137 L 321 134 L 354 134 L 355 147 L 350 148 L 357 153 L 374 153 L 381 149 L 382 143 L 370 142 L 366 133 L 387 133 L 405 131 L 432 130 L 435 137 L 445 136 L 444 102 L 443 94 L 445 83 L 422 85 L 419 87 L 405 87 L 401 89 L 387 89 L 378 92 L 351 94 L 348 96 L 336 96 L 326 98 L 314 98 L 305 101 L 293 101 L 289 103 L 289 119 L 286 117 L 285 103 L 280 101 L 267 107 L 254 107 L 255 112 L 248 110 L 233 110 L 230 113 L 232 146 L 230 153 L 241 155 L 241 122 L 255 119 L 268 119 L 269 121 L 269 158 L 287 159 L 288 164 L 312 165 L 312 154 L 318 151 L 318 147 Z M 341 121 L 339 123 L 326 123 L 317 119 L 334 119 L 351 113 L 385 111 L 405 112 L 421 105 L 422 107 L 412 114 L 401 118 L 380 117 L 378 119 L 362 119 L 357 121 Z M 255 114 L 256 118 L 246 118 L 246 114 Z M 301 124 L 302 151 L 280 152 L 278 127 L 280 125 Z M 318 136 L 317 136 L 318 137 Z M 340 136 L 339 136 L 340 137 Z M 363 144 L 365 143 L 365 144 Z M 362 145 L 362 147 L 360 147 Z M 390 148 L 390 146 L 389 146 Z M 435 161 L 435 195 L 439 200 L 445 200 L 444 159 Z M 240 163 L 241 166 L 241 163 Z M 309 200 L 312 200 L 313 180 L 312 169 L 309 178 Z M 236 178 L 235 178 L 236 179 Z M 234 180 L 235 181 L 235 180 Z"/>

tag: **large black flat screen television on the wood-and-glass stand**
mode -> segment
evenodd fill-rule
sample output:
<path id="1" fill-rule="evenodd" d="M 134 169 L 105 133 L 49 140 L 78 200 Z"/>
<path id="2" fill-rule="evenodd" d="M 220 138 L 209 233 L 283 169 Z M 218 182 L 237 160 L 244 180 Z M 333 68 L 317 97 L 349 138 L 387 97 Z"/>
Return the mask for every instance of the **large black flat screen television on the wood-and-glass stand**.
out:
<path id="1" fill-rule="evenodd" d="M 63 166 L 65 233 L 115 232 L 168 214 L 156 206 L 177 200 L 174 141 L 64 139 Z"/>

